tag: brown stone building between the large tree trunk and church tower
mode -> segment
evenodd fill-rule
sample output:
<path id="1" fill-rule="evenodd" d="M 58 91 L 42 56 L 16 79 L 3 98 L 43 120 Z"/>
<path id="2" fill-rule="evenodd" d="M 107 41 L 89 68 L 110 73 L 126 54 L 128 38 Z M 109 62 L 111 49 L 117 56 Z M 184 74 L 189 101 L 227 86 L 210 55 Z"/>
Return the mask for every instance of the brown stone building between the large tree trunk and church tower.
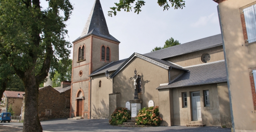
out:
<path id="1" fill-rule="evenodd" d="M 60 87 L 52 88 L 52 86 L 48 85 L 39 88 L 38 116 L 40 121 L 69 117 L 70 84 L 70 81 L 63 81 Z M 24 98 L 26 98 L 26 94 Z"/>

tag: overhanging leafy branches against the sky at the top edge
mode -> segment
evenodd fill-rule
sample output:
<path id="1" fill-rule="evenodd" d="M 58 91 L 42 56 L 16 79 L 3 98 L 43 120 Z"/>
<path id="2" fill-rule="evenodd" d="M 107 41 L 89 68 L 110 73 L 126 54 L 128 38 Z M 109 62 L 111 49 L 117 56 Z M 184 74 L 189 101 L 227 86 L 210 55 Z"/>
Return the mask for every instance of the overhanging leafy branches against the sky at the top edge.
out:
<path id="1" fill-rule="evenodd" d="M 132 11 L 132 6 L 131 4 L 134 3 L 135 0 L 119 0 L 119 3 L 115 3 L 116 7 L 110 7 L 112 11 L 108 11 L 108 16 L 112 17 L 112 13 L 116 16 L 116 11 L 121 11 L 123 9 L 126 12 Z M 168 10 L 170 8 L 169 3 L 171 4 L 171 7 L 174 7 L 174 9 L 185 7 L 185 1 L 183 0 L 157 0 L 157 4 L 162 7 L 163 6 L 163 11 Z M 137 12 L 139 14 L 141 12 L 141 7 L 145 5 L 144 0 L 137 0 L 135 7 L 134 7 L 134 13 Z"/>

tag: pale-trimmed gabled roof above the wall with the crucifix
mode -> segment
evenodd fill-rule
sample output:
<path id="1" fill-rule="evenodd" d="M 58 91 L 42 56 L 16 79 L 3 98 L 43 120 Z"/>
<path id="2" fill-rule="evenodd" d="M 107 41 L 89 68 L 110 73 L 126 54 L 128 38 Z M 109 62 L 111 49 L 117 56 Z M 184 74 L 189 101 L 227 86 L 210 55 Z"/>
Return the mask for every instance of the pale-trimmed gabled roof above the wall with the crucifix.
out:
<path id="1" fill-rule="evenodd" d="M 169 68 L 175 68 L 175 69 L 180 69 L 180 70 L 184 70 L 184 71 L 188 71 L 184 68 L 178 67 L 177 65 L 174 65 L 173 63 L 169 63 L 167 61 L 164 60 L 160 60 L 157 58 L 153 58 L 153 57 L 149 57 L 146 55 L 141 55 L 138 53 L 133 53 L 132 56 L 130 56 L 111 76 L 110 78 L 113 78 L 119 71 L 121 71 L 131 60 L 133 60 L 134 57 L 138 57 L 141 58 L 142 60 L 145 60 L 147 62 L 150 62 L 152 64 L 155 64 L 159 67 L 162 67 L 164 69 L 169 69 Z"/>

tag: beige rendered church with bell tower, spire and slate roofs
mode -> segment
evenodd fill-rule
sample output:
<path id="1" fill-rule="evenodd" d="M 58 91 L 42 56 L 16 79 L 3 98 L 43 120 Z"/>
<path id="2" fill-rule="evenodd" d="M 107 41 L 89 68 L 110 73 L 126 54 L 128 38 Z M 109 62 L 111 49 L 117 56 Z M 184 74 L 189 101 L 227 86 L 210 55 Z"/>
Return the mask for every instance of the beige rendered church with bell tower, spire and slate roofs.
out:
<path id="1" fill-rule="evenodd" d="M 232 126 L 221 34 L 123 60 L 119 44 L 95 0 L 73 41 L 70 118 L 109 119 L 116 107 L 133 114 L 133 106 L 159 106 L 162 126 Z"/>

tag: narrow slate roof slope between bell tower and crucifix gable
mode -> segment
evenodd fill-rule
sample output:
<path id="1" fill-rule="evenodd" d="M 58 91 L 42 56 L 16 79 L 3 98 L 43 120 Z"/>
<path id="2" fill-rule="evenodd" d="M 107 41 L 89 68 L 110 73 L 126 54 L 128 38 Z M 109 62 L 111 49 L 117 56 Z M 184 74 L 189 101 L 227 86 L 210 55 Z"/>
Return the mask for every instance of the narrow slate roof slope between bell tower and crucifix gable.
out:
<path id="1" fill-rule="evenodd" d="M 102 68 L 100 68 L 99 70 L 96 70 L 96 71 L 93 72 L 90 76 L 105 73 L 107 70 L 108 70 L 108 71 L 115 71 L 115 70 L 116 70 L 117 68 L 119 68 L 119 67 L 123 64 L 123 62 L 125 62 L 126 60 L 127 60 L 127 58 L 126 58 L 126 59 L 123 59 L 123 60 L 120 60 L 120 61 L 111 62 L 111 63 L 105 65 L 105 67 L 102 67 Z"/>

